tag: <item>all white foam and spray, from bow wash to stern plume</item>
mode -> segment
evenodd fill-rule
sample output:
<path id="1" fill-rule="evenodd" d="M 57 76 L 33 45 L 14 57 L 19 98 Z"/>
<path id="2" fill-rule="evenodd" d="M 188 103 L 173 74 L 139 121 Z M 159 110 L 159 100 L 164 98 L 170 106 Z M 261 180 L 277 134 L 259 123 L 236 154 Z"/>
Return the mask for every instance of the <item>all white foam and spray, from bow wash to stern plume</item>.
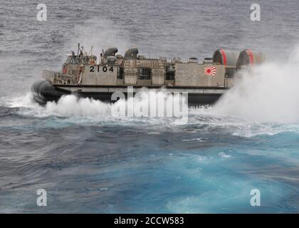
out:
<path id="1" fill-rule="evenodd" d="M 187 123 L 180 123 L 178 118 L 167 118 L 166 115 L 164 115 L 164 118 L 128 118 L 127 116 L 115 116 L 112 114 L 113 110 L 117 110 L 117 108 L 130 107 L 128 105 L 130 100 L 118 100 L 116 103 L 110 104 L 100 100 L 65 95 L 57 103 L 48 102 L 43 107 L 35 103 L 31 93 L 28 93 L 25 96 L 16 98 L 2 98 L 1 103 L 7 107 L 19 108 L 21 115 L 35 116 L 36 118 L 63 117 L 67 118 L 67 120 L 57 119 L 57 121 L 74 124 L 174 125 L 173 130 L 182 130 L 181 128 L 177 129 L 175 125 L 187 124 L 203 126 L 207 132 L 220 128 L 226 130 L 231 135 L 242 137 L 298 132 L 299 125 L 292 123 L 298 118 L 298 115 L 296 115 L 298 112 L 298 105 L 296 105 L 298 98 L 296 98 L 296 94 L 298 92 L 295 92 L 295 87 L 289 88 L 294 93 L 293 98 L 288 98 L 289 93 L 283 93 L 286 96 L 279 95 L 281 97 L 280 106 L 276 106 L 276 99 L 273 100 L 271 97 L 273 93 L 267 94 L 268 84 L 265 82 L 269 80 L 267 69 L 273 66 L 275 65 L 265 63 L 262 66 L 253 68 L 251 73 L 243 73 L 242 77 L 238 79 L 236 86 L 231 88 L 216 105 L 212 107 L 189 108 Z M 256 75 L 256 72 L 259 74 Z M 261 72 L 263 73 L 261 74 Z M 271 81 L 272 83 L 280 84 L 280 77 L 277 75 L 273 76 Z M 248 84 L 252 86 L 248 86 Z M 277 87 L 277 89 L 288 90 L 285 86 L 282 88 Z M 266 89 L 263 90 L 263 88 Z M 254 93 L 251 90 L 254 90 Z M 147 89 L 143 90 L 141 94 L 146 95 L 145 99 L 135 99 L 136 106 L 141 107 L 145 103 L 151 102 L 152 100 L 150 99 L 154 98 L 152 96 L 153 93 L 165 95 L 165 90 L 155 90 L 154 92 Z M 257 98 L 256 93 L 263 94 L 266 98 L 255 100 Z M 169 94 L 167 95 L 169 96 Z M 175 98 L 172 96 L 172 99 Z M 283 103 L 284 99 L 289 99 L 289 102 Z M 283 105 L 285 106 L 282 107 Z M 157 110 L 159 108 L 167 109 L 168 107 L 167 105 L 158 104 Z M 253 111 L 256 108 L 260 108 L 261 112 Z M 166 111 L 164 110 L 165 113 Z"/>

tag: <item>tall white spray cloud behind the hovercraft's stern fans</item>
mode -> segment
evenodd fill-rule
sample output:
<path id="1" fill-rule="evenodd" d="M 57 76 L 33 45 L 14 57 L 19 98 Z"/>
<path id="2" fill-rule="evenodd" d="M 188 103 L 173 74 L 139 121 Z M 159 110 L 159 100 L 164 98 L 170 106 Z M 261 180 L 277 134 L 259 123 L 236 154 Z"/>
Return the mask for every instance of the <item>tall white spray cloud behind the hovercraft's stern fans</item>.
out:
<path id="1" fill-rule="evenodd" d="M 299 122 L 299 48 L 287 62 L 264 63 L 243 71 L 236 86 L 213 107 L 213 113 L 258 123 Z"/>

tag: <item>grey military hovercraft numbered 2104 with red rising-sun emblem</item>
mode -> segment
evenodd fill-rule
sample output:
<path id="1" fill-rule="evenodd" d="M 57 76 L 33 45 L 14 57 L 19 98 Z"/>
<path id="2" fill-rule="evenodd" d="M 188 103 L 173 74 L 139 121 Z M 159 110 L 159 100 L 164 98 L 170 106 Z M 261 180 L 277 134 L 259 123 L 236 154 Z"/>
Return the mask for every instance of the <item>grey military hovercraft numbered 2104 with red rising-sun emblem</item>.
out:
<path id="1" fill-rule="evenodd" d="M 116 54 L 117 48 L 107 48 L 97 56 L 88 54 L 78 44 L 63 63 L 62 71 L 43 70 L 43 80 L 33 83 L 33 99 L 40 104 L 58 101 L 63 95 L 75 94 L 111 102 L 117 91 L 127 95 L 127 87 L 134 93 L 142 88 L 165 88 L 167 91 L 188 92 L 189 105 L 215 103 L 226 90 L 234 86 L 236 72 L 244 66 L 264 61 L 263 53 L 249 49 L 226 51 L 219 49 L 213 58 L 199 63 L 197 58 L 145 58 L 137 48 L 130 48 L 125 56 Z"/>

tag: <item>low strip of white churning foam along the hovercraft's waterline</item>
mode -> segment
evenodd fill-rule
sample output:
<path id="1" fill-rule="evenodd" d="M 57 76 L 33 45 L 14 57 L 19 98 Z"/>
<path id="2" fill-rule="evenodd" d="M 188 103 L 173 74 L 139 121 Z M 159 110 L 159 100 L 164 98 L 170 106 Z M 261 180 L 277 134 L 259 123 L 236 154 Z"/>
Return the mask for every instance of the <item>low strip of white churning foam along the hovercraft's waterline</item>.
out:
<path id="1" fill-rule="evenodd" d="M 144 91 L 143 93 L 150 93 Z M 139 101 L 142 103 L 142 101 Z M 145 102 L 145 100 L 143 100 Z M 32 118 L 51 118 L 58 126 L 74 125 L 127 125 L 130 127 L 144 128 L 147 126 L 149 133 L 160 134 L 164 131 L 182 133 L 226 132 L 236 137 L 251 138 L 258 135 L 277 135 L 279 133 L 298 133 L 298 124 L 258 123 L 242 118 L 221 116 L 216 114 L 215 107 L 189 108 L 187 123 L 179 118 L 129 118 L 127 116 L 112 115 L 111 110 L 119 105 L 127 105 L 127 101 L 119 100 L 117 103 L 103 103 L 90 98 L 78 98 L 75 95 L 66 95 L 58 103 L 49 102 L 46 106 L 33 102 L 31 93 L 18 98 L 1 99 L 1 105 L 14 108 L 20 115 Z M 54 118 L 52 118 L 54 117 Z M 41 123 L 42 124 L 42 123 Z M 48 123 L 45 123 L 46 125 Z M 56 124 L 53 124 L 56 125 Z M 191 138 L 183 142 L 204 142 L 209 139 Z"/>

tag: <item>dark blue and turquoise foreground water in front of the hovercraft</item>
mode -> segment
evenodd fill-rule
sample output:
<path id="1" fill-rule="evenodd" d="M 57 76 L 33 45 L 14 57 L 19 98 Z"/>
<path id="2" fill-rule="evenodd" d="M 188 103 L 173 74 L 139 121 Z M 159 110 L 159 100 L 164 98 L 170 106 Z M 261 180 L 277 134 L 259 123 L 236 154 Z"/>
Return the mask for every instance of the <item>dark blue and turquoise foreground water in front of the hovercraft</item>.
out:
<path id="1" fill-rule="evenodd" d="M 190 109 L 182 124 L 6 105 L 1 212 L 298 212 L 299 125 L 206 114 L 213 108 Z M 36 206 L 40 188 L 47 207 Z"/>

